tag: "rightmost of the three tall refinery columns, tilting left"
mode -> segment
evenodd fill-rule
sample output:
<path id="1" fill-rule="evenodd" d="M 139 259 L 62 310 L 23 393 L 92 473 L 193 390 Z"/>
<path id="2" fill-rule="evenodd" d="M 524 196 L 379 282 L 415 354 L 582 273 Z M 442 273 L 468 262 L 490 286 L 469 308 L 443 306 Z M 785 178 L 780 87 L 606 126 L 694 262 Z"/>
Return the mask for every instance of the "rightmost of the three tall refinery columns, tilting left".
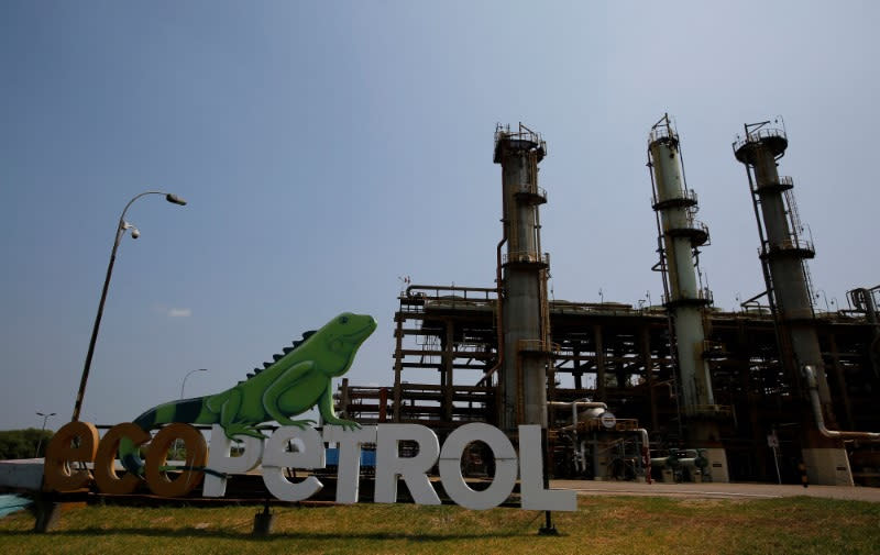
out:
<path id="1" fill-rule="evenodd" d="M 791 177 L 780 177 L 779 160 L 789 145 L 784 131 L 768 127 L 770 122 L 747 124 L 745 138 L 734 143 L 736 159 L 746 166 L 758 234 L 760 258 L 770 307 L 777 321 L 780 358 L 802 399 L 801 448 L 811 484 L 853 485 L 846 449 L 839 440 L 820 434 L 807 401 L 801 373 L 805 365 L 816 368 L 816 382 L 823 417 L 835 429 L 836 419 L 825 365 L 815 328 L 806 259 L 815 256 L 813 244 L 802 236 L 803 226 L 792 196 Z"/>

